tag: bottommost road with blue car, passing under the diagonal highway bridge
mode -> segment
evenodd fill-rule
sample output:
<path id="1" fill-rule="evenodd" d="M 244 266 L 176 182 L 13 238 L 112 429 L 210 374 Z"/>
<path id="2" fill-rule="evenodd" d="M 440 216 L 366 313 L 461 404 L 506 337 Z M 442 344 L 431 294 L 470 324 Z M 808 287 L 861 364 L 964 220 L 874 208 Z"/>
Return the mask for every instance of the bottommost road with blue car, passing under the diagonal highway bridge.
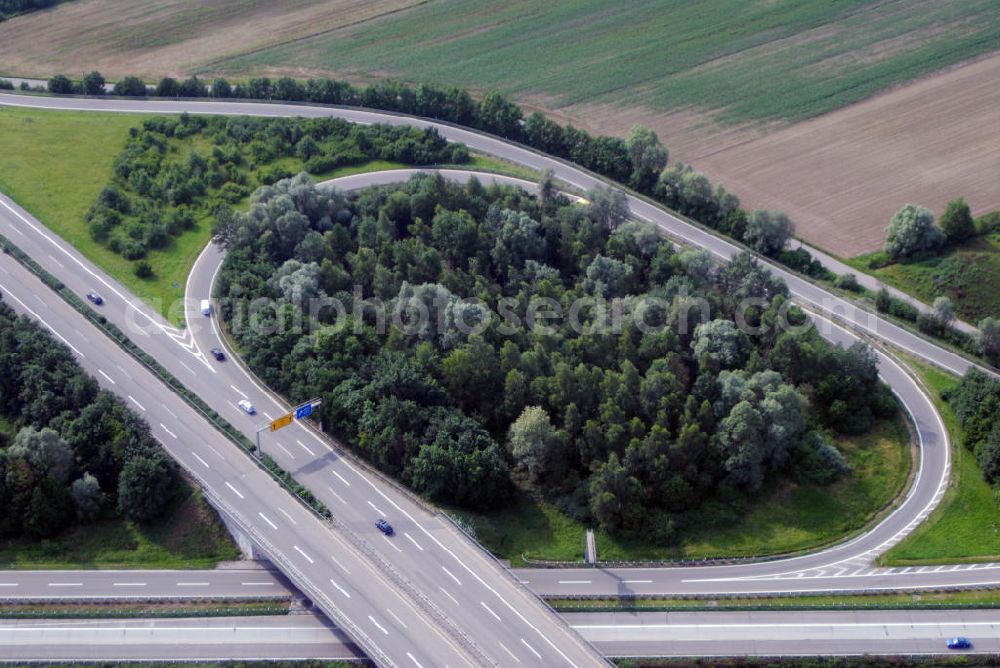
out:
<path id="1" fill-rule="evenodd" d="M 607 656 L 818 656 L 1000 652 L 996 610 L 569 613 Z M 0 660 L 347 659 L 350 640 L 310 614 L 134 620 L 0 620 Z"/>

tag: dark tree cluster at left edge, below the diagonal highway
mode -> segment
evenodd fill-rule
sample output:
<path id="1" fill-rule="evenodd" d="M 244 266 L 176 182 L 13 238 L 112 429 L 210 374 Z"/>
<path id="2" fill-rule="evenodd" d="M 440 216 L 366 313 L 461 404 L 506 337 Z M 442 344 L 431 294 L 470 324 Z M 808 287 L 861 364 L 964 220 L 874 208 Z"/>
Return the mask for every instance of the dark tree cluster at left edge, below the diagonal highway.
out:
<path id="1" fill-rule="evenodd" d="M 177 471 L 149 426 L 65 346 L 0 303 L 0 535 L 51 536 L 102 511 L 159 515 Z"/>

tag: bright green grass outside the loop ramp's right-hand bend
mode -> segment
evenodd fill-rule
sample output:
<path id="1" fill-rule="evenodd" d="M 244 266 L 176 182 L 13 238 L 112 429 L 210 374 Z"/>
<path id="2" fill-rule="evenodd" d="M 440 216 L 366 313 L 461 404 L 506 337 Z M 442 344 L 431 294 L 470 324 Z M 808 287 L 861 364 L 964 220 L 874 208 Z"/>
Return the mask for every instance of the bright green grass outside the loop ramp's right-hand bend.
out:
<path id="1" fill-rule="evenodd" d="M 952 441 L 951 485 L 929 518 L 882 557 L 889 566 L 1000 560 L 1000 506 L 971 452 L 961 445 L 962 428 L 941 392 L 955 376 L 910 360 L 931 390 Z"/>

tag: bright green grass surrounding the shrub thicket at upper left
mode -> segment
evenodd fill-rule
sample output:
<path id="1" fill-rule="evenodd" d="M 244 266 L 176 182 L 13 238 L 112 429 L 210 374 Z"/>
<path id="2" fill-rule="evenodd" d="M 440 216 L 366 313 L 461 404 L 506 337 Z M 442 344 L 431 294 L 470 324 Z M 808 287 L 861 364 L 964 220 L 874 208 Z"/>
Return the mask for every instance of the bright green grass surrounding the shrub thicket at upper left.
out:
<path id="1" fill-rule="evenodd" d="M 165 248 L 150 250 L 146 259 L 153 276 L 146 279 L 135 275 L 134 262 L 94 241 L 84 219 L 110 179 L 112 163 L 125 145 L 129 128 L 144 118 L 140 114 L 0 109 L 0 137 L 4 138 L 4 150 L 0 151 L 0 192 L 166 316 L 174 300 L 183 297 L 191 266 L 211 237 L 209 216 L 203 213 L 194 229 L 172 237 Z M 177 140 L 171 145 L 171 154 L 186 157 L 194 145 L 195 140 L 190 138 Z M 269 165 L 273 166 L 295 172 L 302 169 L 302 162 L 283 158 Z M 372 161 L 314 176 L 322 180 L 402 167 L 405 165 Z M 536 178 L 530 170 L 486 156 L 474 156 L 465 167 Z M 245 205 L 246 200 L 237 207 Z M 80 285 L 75 289 L 83 294 L 99 286 Z M 175 315 L 175 324 L 180 324 L 176 318 Z"/>

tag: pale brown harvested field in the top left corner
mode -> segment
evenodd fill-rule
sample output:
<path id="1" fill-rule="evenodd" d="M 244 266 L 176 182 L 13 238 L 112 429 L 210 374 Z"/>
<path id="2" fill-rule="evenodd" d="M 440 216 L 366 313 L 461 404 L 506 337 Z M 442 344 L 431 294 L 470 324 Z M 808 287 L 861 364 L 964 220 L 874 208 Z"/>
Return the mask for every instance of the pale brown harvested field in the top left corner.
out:
<path id="1" fill-rule="evenodd" d="M 181 76 L 424 0 L 77 0 L 0 23 L 0 73 Z"/>

